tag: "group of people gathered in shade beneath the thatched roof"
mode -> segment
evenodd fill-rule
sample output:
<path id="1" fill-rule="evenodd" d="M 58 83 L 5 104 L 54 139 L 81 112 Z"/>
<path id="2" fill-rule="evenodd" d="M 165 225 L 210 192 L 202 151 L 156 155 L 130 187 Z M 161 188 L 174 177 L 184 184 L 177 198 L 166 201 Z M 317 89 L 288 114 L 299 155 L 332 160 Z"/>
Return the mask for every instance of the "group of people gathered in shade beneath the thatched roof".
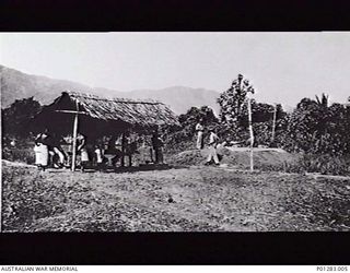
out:
<path id="1" fill-rule="evenodd" d="M 73 138 L 58 135 L 45 129 L 35 138 L 35 164 L 39 170 L 47 167 L 70 168 L 72 165 Z M 86 168 L 105 170 L 108 167 L 125 167 L 125 156 L 132 166 L 132 155 L 139 153 L 138 147 L 149 145 L 150 159 L 145 163 L 163 164 L 163 140 L 158 130 L 151 138 L 129 131 L 116 135 L 88 138 L 82 133 L 77 135 L 75 154 L 77 167 L 84 171 Z"/>

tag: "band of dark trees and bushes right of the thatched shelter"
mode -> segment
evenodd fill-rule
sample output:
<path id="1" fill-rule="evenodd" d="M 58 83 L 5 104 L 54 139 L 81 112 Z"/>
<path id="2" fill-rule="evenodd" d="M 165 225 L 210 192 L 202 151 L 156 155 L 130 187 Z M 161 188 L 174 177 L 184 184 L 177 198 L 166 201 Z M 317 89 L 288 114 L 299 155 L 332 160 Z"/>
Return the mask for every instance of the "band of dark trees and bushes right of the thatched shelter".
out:
<path id="1" fill-rule="evenodd" d="M 249 134 L 246 102 L 247 91 L 253 90 L 253 86 L 249 81 L 240 78 L 238 75 L 232 86 L 218 98 L 221 107 L 219 119 L 208 115 L 208 107 L 192 107 L 180 116 L 185 130 L 168 135 L 170 146 L 194 147 L 195 126 L 199 118 L 205 120 L 207 127 L 215 126 L 222 141 L 247 145 Z M 302 153 L 303 159 L 298 168 L 307 171 L 350 174 L 349 105 L 329 105 L 328 96 L 322 94 L 320 97 L 315 96 L 315 99 L 301 99 L 292 112 L 285 112 L 279 104 L 269 105 L 252 99 L 252 112 L 255 146 L 281 147 L 291 153 Z"/>

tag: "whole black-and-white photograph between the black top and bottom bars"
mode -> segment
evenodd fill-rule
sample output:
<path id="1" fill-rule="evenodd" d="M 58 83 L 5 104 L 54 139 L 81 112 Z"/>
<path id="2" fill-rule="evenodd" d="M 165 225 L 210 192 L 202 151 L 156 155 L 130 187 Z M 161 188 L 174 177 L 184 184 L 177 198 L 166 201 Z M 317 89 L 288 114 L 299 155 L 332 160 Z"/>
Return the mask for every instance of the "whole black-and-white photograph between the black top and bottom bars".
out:
<path id="1" fill-rule="evenodd" d="M 350 33 L 1 33 L 1 233 L 350 232 Z"/>

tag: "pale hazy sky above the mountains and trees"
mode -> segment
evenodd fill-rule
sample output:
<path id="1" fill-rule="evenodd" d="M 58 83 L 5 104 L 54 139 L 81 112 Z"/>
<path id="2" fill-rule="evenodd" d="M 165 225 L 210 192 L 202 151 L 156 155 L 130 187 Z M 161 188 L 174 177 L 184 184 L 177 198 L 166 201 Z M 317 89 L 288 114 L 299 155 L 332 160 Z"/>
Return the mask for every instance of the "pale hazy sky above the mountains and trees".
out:
<path id="1" fill-rule="evenodd" d="M 0 63 L 117 91 L 222 92 L 242 73 L 260 102 L 350 96 L 350 33 L 9 33 Z"/>

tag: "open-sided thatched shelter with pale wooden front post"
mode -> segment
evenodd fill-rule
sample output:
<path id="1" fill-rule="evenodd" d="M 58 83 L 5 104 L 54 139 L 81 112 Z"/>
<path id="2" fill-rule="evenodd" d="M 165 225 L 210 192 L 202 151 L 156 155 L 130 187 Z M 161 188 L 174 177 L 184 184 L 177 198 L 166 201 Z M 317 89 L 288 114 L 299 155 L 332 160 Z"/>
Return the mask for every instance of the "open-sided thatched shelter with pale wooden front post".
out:
<path id="1" fill-rule="evenodd" d="M 72 169 L 78 132 L 95 139 L 130 129 L 150 133 L 158 126 L 179 126 L 177 116 L 160 102 L 104 98 L 70 91 L 62 92 L 52 104 L 45 106 L 36 123 L 60 135 L 73 135 Z"/>

